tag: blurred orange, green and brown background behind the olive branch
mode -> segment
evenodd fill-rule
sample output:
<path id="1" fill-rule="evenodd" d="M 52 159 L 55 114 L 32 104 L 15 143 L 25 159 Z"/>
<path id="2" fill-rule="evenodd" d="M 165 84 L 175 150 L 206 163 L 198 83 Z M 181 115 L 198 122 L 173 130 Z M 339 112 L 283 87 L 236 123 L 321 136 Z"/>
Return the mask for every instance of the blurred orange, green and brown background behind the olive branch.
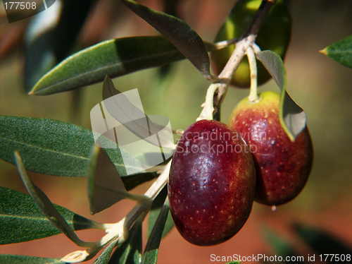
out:
<path id="1" fill-rule="evenodd" d="M 166 6 L 177 3 L 177 16 L 209 42 L 215 38 L 235 2 L 165 1 Z M 139 3 L 160 11 L 164 10 L 165 4 L 162 0 Z M 193 246 L 182 239 L 176 229 L 172 229 L 161 241 L 158 263 L 213 263 L 211 254 L 252 256 L 265 253 L 267 256 L 280 256 L 290 250 L 296 256 L 305 256 L 305 260 L 308 254 L 312 256 L 315 253 L 317 260 L 318 251 L 308 246 L 305 236 L 298 235 L 295 231 L 297 225 L 323 230 L 341 245 L 352 248 L 352 69 L 337 64 L 319 52 L 351 35 L 352 2 L 296 0 L 289 4 L 293 32 L 284 63 L 287 68 L 287 90 L 305 110 L 313 138 L 315 160 L 308 184 L 296 199 L 279 206 L 275 212 L 255 203 L 248 222 L 225 244 Z M 26 52 L 28 49 L 25 48 L 23 34 L 30 18 L 8 23 L 1 1 L 0 14 L 0 114 L 57 119 L 91 128 L 89 112 L 102 100 L 102 83 L 80 88 L 78 92 L 27 95 L 24 72 L 25 61 L 30 54 Z M 71 39 L 70 52 L 116 37 L 156 34 L 156 30 L 120 1 L 92 1 L 77 39 Z M 34 69 L 36 65 L 32 64 L 31 67 Z M 172 128 L 185 129 L 199 116 L 210 83 L 186 60 L 172 64 L 164 78 L 160 75 L 161 69 L 153 68 L 115 78 L 113 83 L 122 92 L 138 88 L 146 114 L 168 116 Z M 279 91 L 273 80 L 259 88 L 259 92 L 264 90 Z M 221 121 L 227 123 L 233 107 L 248 95 L 249 90 L 230 88 L 222 104 Z M 0 146 L 0 151 L 1 148 L 4 146 Z M 122 201 L 91 216 L 85 179 L 35 173 L 30 173 L 30 176 L 53 203 L 99 222 L 118 222 L 134 206 L 133 202 Z M 132 192 L 143 193 L 150 184 L 143 184 Z M 16 168 L 2 160 L 0 185 L 25 192 Z M 306 234 L 310 234 L 309 238 L 312 239 L 313 233 Z M 78 232 L 78 236 L 88 241 L 98 240 L 102 235 L 101 232 Z M 332 246 L 335 242 L 329 243 Z M 284 248 L 287 251 L 280 251 L 283 245 L 287 246 Z M 0 253 L 61 258 L 79 249 L 65 236 L 58 235 L 0 246 Z M 93 260 L 87 263 L 93 263 Z"/>

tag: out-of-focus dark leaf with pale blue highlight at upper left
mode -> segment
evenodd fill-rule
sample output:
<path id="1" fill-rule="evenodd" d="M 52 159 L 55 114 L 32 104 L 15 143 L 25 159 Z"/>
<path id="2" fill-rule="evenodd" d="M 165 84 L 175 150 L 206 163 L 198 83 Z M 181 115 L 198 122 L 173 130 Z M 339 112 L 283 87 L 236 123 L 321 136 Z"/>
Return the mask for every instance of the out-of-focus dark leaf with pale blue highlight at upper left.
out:
<path id="1" fill-rule="evenodd" d="M 25 34 L 25 90 L 69 55 L 94 0 L 56 0 L 30 20 Z M 72 14 L 75 13 L 75 16 Z"/>

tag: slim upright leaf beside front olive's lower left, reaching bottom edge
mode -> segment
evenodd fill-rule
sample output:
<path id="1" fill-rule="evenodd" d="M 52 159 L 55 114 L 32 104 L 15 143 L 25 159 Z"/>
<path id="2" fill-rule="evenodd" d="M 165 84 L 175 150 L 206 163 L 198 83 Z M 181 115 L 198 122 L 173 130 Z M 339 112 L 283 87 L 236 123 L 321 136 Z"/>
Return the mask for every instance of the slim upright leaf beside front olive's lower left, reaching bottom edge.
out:
<path id="1" fill-rule="evenodd" d="M 168 218 L 168 212 L 170 211 L 169 200 L 165 199 L 163 208 L 154 224 L 153 230 L 149 236 L 148 242 L 146 243 L 146 248 L 142 256 L 142 264 L 156 263 L 158 260 L 158 251 L 161 238 L 163 236 L 163 230 L 165 227 L 165 222 Z"/>

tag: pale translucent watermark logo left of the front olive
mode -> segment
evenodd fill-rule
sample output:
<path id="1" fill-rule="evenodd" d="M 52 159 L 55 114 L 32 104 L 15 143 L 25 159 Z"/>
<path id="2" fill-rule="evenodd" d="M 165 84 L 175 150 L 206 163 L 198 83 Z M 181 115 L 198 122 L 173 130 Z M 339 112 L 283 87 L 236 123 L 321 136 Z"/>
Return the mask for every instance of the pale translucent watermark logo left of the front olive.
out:
<path id="1" fill-rule="evenodd" d="M 142 172 L 170 158 L 175 150 L 172 128 L 166 116 L 144 114 L 137 89 L 118 93 L 90 112 L 96 145 L 118 148 L 127 175 Z M 131 166 L 131 156 L 139 161 Z"/>

